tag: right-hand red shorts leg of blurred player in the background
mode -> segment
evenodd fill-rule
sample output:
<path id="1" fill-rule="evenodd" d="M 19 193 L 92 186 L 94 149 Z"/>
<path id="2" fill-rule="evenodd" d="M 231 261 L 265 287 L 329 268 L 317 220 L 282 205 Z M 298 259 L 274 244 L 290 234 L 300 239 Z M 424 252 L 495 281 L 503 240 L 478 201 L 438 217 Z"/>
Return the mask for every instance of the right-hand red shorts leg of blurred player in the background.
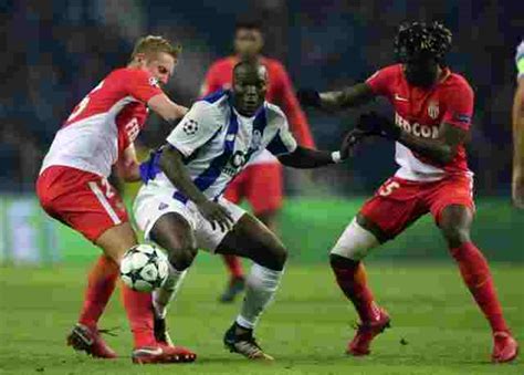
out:
<path id="1" fill-rule="evenodd" d="M 256 217 L 274 216 L 282 207 L 283 176 L 279 163 L 254 164 L 248 167 L 245 196 Z"/>

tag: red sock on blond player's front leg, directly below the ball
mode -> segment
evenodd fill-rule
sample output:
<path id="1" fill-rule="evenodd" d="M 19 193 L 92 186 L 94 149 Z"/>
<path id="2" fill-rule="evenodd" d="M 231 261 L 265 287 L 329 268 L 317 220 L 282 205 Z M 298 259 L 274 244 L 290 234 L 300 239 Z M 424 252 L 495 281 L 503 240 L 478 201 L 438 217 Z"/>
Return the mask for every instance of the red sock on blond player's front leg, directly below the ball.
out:
<path id="1" fill-rule="evenodd" d="M 122 284 L 122 300 L 129 320 L 135 347 L 156 346 L 153 333 L 151 293 L 136 292 Z"/>

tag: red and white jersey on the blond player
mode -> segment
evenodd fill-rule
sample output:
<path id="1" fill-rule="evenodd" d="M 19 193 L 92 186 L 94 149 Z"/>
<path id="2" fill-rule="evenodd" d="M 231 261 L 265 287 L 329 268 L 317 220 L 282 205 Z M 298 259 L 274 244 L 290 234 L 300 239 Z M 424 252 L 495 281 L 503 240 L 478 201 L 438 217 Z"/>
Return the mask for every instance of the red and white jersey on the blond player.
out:
<path id="1" fill-rule="evenodd" d="M 140 69 L 109 73 L 73 110 L 43 162 L 101 176 L 135 140 L 147 118 L 147 102 L 161 94 L 157 80 Z"/>

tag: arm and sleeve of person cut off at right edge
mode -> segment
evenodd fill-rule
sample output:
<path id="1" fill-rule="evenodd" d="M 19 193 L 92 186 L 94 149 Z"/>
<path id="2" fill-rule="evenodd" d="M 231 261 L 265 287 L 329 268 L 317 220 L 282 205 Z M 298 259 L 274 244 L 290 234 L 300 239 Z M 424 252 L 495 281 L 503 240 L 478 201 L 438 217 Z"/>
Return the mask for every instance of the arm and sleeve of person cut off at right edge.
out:
<path id="1" fill-rule="evenodd" d="M 513 204 L 524 208 L 524 41 L 516 49 L 518 86 L 513 100 Z"/>

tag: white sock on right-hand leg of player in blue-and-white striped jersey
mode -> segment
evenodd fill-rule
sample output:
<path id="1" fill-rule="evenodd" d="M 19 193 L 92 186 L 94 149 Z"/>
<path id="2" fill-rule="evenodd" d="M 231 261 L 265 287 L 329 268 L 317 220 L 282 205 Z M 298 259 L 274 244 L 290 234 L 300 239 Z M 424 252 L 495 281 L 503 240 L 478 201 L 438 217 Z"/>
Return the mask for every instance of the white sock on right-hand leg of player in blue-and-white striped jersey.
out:
<path id="1" fill-rule="evenodd" d="M 253 330 L 260 315 L 279 289 L 283 271 L 270 270 L 253 263 L 251 272 L 245 280 L 245 296 L 237 316 L 237 324 L 244 329 Z"/>

